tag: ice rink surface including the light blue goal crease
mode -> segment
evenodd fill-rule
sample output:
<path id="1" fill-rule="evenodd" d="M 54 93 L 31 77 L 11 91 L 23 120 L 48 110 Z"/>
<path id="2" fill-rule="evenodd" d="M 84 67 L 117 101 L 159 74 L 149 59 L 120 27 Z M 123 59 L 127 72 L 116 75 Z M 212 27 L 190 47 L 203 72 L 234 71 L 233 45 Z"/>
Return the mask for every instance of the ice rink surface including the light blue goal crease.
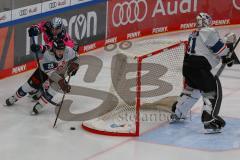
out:
<path id="1" fill-rule="evenodd" d="M 221 35 L 234 32 L 240 35 L 239 26 L 217 28 Z M 148 36 L 133 40 L 128 53 L 134 54 L 135 43 L 159 43 L 186 40 L 190 31 Z M 155 48 L 145 48 L 144 53 Z M 236 49 L 240 55 L 240 47 Z M 86 83 L 94 89 L 108 88 L 110 76 L 104 66 L 111 63 L 114 54 L 103 48 L 88 53 L 103 62 L 102 74 L 94 83 Z M 81 67 L 70 84 L 83 82 L 86 67 Z M 31 116 L 34 105 L 28 97 L 12 107 L 3 106 L 4 100 L 22 85 L 33 71 L 5 78 L 0 81 L 0 159 L 1 160 L 239 160 L 240 157 L 240 65 L 225 68 L 220 80 L 223 101 L 220 115 L 226 120 L 221 134 L 203 134 L 200 122 L 201 102 L 192 109 L 191 118 L 180 124 L 157 122 L 139 137 L 111 137 L 89 133 L 81 128 L 80 121 L 58 120 L 54 107 L 49 105 L 38 116 Z M 73 99 L 72 113 L 82 113 L 94 108 L 96 103 L 89 97 L 67 95 Z M 70 130 L 76 127 L 76 130 Z"/>

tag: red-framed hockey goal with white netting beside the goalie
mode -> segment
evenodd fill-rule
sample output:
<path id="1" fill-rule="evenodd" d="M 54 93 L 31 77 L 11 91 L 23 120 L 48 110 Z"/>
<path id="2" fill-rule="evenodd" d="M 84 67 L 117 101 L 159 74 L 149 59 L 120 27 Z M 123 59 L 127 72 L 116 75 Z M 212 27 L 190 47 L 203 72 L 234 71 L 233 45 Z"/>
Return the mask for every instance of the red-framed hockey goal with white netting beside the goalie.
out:
<path id="1" fill-rule="evenodd" d="M 185 50 L 186 43 L 179 42 L 137 57 L 118 55 L 111 71 L 111 93 L 118 98 L 118 105 L 83 122 L 82 127 L 96 134 L 139 136 L 142 118 L 148 113 L 159 108 L 171 112 L 183 88 Z"/>

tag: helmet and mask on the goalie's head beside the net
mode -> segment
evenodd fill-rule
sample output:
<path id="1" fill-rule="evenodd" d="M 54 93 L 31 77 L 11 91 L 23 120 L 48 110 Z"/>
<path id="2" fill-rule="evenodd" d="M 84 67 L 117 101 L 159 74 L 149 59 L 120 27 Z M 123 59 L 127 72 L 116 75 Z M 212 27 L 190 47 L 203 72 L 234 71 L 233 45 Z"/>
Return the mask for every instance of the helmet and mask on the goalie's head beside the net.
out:
<path id="1" fill-rule="evenodd" d="M 212 25 L 212 18 L 207 13 L 199 13 L 196 17 L 196 27 L 209 27 Z"/>

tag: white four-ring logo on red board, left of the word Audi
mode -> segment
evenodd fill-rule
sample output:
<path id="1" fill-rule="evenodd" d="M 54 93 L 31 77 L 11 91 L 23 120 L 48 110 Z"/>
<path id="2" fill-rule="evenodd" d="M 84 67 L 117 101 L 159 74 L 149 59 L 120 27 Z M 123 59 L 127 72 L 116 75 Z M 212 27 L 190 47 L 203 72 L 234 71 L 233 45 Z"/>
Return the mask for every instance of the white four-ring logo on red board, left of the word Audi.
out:
<path id="1" fill-rule="evenodd" d="M 120 25 L 142 22 L 147 15 L 148 6 L 146 0 L 132 0 L 117 3 L 113 7 L 112 22 L 115 27 Z"/>

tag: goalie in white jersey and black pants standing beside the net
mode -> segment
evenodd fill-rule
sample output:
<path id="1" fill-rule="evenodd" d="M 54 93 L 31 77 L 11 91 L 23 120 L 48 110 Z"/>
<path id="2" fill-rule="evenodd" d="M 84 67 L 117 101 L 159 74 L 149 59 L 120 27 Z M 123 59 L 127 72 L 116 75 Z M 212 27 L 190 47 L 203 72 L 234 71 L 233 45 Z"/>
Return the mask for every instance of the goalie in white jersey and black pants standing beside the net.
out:
<path id="1" fill-rule="evenodd" d="M 224 59 L 225 63 L 232 62 L 226 55 L 233 49 L 236 35 L 227 34 L 222 40 L 219 33 L 211 28 L 212 19 L 207 13 L 200 13 L 196 21 L 197 29 L 189 36 L 189 47 L 183 63 L 186 87 L 172 107 L 174 113 L 171 115 L 171 121 L 185 119 L 202 96 L 204 106 L 201 120 L 204 128 L 219 131 L 225 126 L 225 121 L 218 115 L 222 87 L 219 78 L 214 76 L 211 70 L 221 62 L 221 59 Z"/>

